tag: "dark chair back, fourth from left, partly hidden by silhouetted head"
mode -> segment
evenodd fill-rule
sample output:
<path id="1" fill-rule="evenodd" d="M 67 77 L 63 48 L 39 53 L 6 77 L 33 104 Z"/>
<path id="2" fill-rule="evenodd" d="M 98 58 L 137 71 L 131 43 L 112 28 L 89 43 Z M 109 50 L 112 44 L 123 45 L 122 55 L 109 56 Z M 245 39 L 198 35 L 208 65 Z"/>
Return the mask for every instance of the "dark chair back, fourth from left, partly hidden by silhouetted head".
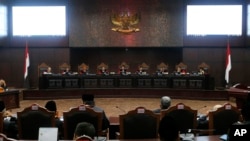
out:
<path id="1" fill-rule="evenodd" d="M 173 117 L 181 133 L 187 133 L 189 129 L 197 127 L 197 110 L 191 109 L 183 103 L 178 103 L 166 110 L 161 111 L 161 117 L 169 115 Z"/>

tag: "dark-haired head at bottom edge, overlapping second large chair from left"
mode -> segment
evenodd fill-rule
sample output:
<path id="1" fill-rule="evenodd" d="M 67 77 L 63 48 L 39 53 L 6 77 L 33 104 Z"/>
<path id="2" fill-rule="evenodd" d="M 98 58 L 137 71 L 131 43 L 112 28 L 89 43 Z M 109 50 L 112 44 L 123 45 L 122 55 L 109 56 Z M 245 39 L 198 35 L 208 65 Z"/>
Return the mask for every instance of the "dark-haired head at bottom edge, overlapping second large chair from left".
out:
<path id="1" fill-rule="evenodd" d="M 77 124 L 75 132 L 74 132 L 74 140 L 77 140 L 78 138 L 82 136 L 88 136 L 92 140 L 94 140 L 95 137 L 95 127 L 91 123 L 88 122 L 80 122 Z"/>

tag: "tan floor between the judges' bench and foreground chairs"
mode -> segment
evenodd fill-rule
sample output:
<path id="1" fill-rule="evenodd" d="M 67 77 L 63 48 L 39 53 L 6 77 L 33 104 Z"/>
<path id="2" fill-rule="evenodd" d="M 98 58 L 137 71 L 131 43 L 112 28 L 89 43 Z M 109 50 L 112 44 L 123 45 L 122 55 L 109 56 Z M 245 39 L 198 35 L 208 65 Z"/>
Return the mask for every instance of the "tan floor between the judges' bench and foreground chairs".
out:
<path id="1" fill-rule="evenodd" d="M 55 100 L 57 103 L 57 109 L 59 114 L 62 115 L 63 111 L 68 111 L 71 107 L 76 107 L 82 103 L 81 99 L 59 99 Z M 44 106 L 47 100 L 21 100 L 20 108 L 12 109 L 11 112 L 15 114 L 17 111 L 23 110 L 25 107 L 30 106 L 33 103 L 37 103 Z M 235 102 L 230 101 L 203 101 L 203 100 L 184 100 L 184 99 L 172 99 L 171 105 L 177 103 L 184 103 L 190 106 L 192 109 L 198 110 L 199 114 L 205 114 L 208 110 L 216 104 L 231 103 L 234 106 Z M 119 116 L 128 112 L 129 110 L 135 109 L 138 106 L 143 106 L 147 109 L 156 109 L 160 106 L 159 98 L 95 98 L 97 106 L 102 107 L 107 117 Z"/>

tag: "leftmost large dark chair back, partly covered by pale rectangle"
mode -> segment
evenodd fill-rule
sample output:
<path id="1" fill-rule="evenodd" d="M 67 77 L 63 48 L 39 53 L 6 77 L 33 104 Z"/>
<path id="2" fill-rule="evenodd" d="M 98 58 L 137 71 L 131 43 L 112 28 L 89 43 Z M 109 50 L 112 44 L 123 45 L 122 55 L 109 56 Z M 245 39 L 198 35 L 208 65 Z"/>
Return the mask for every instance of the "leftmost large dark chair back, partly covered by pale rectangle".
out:
<path id="1" fill-rule="evenodd" d="M 54 127 L 55 113 L 38 104 L 17 112 L 19 139 L 37 140 L 40 127 Z"/>

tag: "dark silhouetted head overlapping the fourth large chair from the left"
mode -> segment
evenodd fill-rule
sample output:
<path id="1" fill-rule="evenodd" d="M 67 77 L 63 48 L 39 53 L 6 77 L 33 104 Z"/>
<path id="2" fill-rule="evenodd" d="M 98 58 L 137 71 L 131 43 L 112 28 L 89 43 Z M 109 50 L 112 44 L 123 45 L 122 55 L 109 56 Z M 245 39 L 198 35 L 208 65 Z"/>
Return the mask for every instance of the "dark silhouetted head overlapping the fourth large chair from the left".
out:
<path id="1" fill-rule="evenodd" d="M 179 129 L 176 121 L 171 116 L 164 116 L 158 130 L 161 141 L 179 141 Z"/>

